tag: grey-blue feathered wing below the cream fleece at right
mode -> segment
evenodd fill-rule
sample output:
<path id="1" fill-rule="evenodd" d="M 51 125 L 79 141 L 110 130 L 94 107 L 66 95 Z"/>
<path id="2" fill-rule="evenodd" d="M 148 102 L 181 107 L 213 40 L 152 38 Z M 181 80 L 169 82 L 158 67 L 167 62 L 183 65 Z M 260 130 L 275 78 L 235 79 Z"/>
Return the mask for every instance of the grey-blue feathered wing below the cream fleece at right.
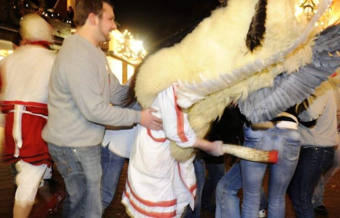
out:
<path id="1" fill-rule="evenodd" d="M 340 66 L 340 25 L 324 30 L 315 40 L 312 62 L 292 74 L 283 73 L 272 87 L 254 91 L 238 107 L 252 123 L 272 120 L 302 102 Z"/>

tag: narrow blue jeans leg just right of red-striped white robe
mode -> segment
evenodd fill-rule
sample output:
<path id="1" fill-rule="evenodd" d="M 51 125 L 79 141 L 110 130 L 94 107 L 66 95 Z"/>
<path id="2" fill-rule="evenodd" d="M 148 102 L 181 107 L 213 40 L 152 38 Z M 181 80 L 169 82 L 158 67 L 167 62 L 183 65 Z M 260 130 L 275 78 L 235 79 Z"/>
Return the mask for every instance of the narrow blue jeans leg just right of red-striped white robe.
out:
<path id="1" fill-rule="evenodd" d="M 205 181 L 205 167 L 204 160 L 202 158 L 196 157 L 194 161 L 195 176 L 196 176 L 196 198 L 194 211 L 191 210 L 190 206 L 187 206 L 185 212 L 185 218 L 200 218 L 201 217 L 201 200 L 202 192 L 204 188 Z"/>

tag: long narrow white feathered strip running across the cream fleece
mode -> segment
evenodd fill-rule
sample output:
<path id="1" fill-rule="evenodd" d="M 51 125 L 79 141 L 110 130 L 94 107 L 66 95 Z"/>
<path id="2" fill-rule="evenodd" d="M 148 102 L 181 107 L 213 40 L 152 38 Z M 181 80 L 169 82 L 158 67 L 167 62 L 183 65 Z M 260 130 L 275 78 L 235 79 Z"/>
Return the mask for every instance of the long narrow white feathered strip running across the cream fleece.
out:
<path id="1" fill-rule="evenodd" d="M 308 22 L 305 31 L 285 50 L 278 51 L 267 59 L 257 59 L 254 62 L 250 62 L 240 68 L 236 68 L 231 72 L 221 73 L 218 78 L 206 79 L 203 76 L 200 76 L 202 82 L 193 83 L 188 83 L 186 81 L 182 82 L 179 80 L 179 89 L 176 91 L 178 105 L 182 108 L 190 108 L 193 104 L 201 101 L 207 95 L 227 89 L 239 83 L 243 79 L 250 78 L 261 71 L 263 72 L 268 70 L 272 72 L 279 72 L 279 70 L 275 68 L 279 68 L 280 65 L 276 66 L 276 64 L 284 62 L 290 52 L 305 43 L 310 33 L 314 30 L 315 22 L 318 21 L 319 17 L 323 14 L 324 10 L 330 3 L 331 0 L 323 0 L 319 4 L 317 13 L 315 13 L 312 19 Z M 273 76 L 276 77 L 277 75 Z"/>

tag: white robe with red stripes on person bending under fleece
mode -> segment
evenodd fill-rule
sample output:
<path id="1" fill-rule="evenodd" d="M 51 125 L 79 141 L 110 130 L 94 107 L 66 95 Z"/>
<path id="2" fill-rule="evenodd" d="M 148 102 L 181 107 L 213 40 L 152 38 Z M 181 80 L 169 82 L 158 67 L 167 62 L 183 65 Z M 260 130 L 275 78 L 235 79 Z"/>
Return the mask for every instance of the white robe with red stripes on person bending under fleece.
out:
<path id="1" fill-rule="evenodd" d="M 181 147 L 191 147 L 196 141 L 187 114 L 177 106 L 174 90 L 173 85 L 158 93 L 152 105 L 158 110 L 154 115 L 163 119 L 164 130 L 137 126 L 122 196 L 132 217 L 180 217 L 188 204 L 194 207 L 194 157 L 179 163 L 170 155 L 170 140 Z"/>

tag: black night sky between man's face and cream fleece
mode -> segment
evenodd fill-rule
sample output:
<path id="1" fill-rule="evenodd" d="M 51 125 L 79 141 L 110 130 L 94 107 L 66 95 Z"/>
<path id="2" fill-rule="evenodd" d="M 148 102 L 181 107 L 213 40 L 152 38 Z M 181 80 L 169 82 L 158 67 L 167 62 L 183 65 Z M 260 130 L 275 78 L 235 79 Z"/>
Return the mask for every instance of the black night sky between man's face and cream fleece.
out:
<path id="1" fill-rule="evenodd" d="M 131 31 L 144 47 L 197 23 L 220 5 L 218 0 L 111 0 L 119 30 Z"/>

